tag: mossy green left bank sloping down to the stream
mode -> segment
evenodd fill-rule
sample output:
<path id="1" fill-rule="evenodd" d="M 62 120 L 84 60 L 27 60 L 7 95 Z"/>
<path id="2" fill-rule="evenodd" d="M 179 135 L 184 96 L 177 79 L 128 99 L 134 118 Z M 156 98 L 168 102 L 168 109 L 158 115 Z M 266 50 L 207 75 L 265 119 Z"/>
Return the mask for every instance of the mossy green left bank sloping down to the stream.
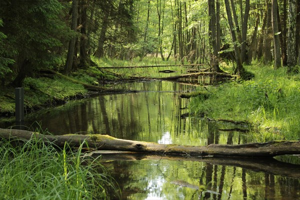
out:
<path id="1" fill-rule="evenodd" d="M 23 82 L 25 113 L 40 110 L 45 107 L 54 107 L 64 104 L 71 99 L 88 97 L 90 87 L 109 87 L 117 80 L 126 79 L 130 75 L 150 76 L 153 69 L 102 69 L 111 66 L 136 66 L 175 64 L 174 60 L 161 61 L 153 58 L 145 58 L 142 62 L 136 60 L 96 59 L 93 61 L 98 66 L 78 69 L 70 76 L 52 73 L 49 70 L 40 71 L 38 76 L 26 77 Z M 101 67 L 99 67 L 101 66 Z M 133 71 L 133 72 L 132 72 Z M 97 90 L 97 89 L 96 89 Z M 15 112 L 14 88 L 5 86 L 0 88 L 0 116 L 13 116 Z M 3 120 L 3 119 L 2 119 Z"/>

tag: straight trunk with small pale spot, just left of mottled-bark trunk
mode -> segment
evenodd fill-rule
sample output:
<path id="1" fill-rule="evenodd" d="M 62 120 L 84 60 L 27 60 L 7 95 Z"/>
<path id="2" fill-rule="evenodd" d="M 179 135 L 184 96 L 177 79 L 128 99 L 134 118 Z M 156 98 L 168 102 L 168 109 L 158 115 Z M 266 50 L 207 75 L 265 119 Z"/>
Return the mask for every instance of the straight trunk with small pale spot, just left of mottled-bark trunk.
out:
<path id="1" fill-rule="evenodd" d="M 272 0 L 272 29 L 273 29 L 273 40 L 274 40 L 274 67 L 278 68 L 281 66 L 281 52 L 280 52 L 280 39 L 279 29 L 277 21 L 277 0 Z"/>

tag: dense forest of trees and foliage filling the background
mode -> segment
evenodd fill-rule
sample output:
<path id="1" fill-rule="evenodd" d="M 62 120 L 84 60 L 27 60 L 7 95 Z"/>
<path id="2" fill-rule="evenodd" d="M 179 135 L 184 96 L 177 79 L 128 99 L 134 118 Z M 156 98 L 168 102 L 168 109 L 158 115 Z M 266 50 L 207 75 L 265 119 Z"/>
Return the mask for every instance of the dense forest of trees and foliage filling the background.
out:
<path id="1" fill-rule="evenodd" d="M 1 84 L 41 69 L 69 74 L 92 57 L 180 63 L 300 64 L 296 0 L 1 0 Z"/>

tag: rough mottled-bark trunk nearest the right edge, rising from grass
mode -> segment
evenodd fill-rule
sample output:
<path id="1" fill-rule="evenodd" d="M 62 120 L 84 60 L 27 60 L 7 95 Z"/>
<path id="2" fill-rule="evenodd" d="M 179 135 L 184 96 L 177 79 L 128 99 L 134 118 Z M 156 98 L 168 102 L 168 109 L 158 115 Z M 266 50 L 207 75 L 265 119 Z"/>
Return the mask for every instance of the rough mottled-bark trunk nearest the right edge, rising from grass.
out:
<path id="1" fill-rule="evenodd" d="M 289 0 L 288 6 L 288 33 L 287 33 L 287 66 L 292 71 L 297 63 L 296 55 L 296 2 Z"/>

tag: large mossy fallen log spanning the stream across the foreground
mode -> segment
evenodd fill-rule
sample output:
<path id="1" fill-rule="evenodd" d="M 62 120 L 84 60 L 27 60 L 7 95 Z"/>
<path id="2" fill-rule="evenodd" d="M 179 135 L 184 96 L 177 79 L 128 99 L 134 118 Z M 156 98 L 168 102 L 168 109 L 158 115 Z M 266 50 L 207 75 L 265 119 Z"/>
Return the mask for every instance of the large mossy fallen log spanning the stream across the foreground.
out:
<path id="1" fill-rule="evenodd" d="M 207 146 L 186 146 L 177 144 L 158 144 L 146 141 L 118 139 L 101 134 L 67 134 L 45 135 L 27 130 L 2 129 L 0 137 L 6 139 L 40 138 L 45 143 L 63 147 L 65 142 L 70 147 L 79 147 L 85 141 L 84 147 L 97 150 L 122 150 L 135 152 L 149 152 L 162 154 L 183 155 L 213 155 L 213 156 L 255 156 L 272 157 L 283 154 L 300 154 L 300 141 L 271 141 L 266 143 L 245 143 L 238 145 L 209 144 Z"/>

